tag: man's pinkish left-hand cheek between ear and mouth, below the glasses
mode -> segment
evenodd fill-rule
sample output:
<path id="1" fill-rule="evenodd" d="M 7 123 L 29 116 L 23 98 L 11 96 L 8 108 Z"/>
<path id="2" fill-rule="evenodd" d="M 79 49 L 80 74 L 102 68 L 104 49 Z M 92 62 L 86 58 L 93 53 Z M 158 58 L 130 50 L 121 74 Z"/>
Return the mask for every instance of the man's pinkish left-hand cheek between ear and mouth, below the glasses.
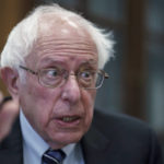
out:
<path id="1" fill-rule="evenodd" d="M 31 125 L 40 132 L 48 124 L 52 106 L 58 97 L 58 90 L 54 91 L 34 83 L 22 86 L 20 89 L 20 103 L 23 107 L 23 113 Z M 23 92 L 21 92 L 23 91 Z"/>

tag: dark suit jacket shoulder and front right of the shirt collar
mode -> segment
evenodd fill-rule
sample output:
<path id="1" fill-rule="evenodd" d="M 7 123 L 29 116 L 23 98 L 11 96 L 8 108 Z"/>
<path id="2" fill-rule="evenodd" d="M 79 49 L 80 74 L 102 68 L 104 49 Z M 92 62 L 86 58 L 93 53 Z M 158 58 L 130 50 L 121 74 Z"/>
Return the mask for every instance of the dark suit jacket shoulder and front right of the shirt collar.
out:
<path id="1" fill-rule="evenodd" d="M 101 152 L 104 148 L 104 163 L 162 164 L 161 148 L 154 131 L 145 122 L 127 115 L 95 110 L 84 141 L 85 150 L 91 152 L 95 148 Z"/>

